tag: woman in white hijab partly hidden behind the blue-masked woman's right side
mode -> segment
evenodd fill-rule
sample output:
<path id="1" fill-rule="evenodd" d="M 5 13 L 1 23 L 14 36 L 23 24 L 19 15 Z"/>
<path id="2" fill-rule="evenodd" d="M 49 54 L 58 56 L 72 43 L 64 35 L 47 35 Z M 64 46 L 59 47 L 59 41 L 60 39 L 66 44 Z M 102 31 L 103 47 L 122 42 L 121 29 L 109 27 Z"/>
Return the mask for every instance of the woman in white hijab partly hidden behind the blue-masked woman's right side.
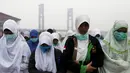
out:
<path id="1" fill-rule="evenodd" d="M 52 33 L 53 36 L 53 46 L 55 49 L 59 49 L 61 52 L 63 52 L 63 47 L 61 45 L 60 36 L 58 33 Z"/>

